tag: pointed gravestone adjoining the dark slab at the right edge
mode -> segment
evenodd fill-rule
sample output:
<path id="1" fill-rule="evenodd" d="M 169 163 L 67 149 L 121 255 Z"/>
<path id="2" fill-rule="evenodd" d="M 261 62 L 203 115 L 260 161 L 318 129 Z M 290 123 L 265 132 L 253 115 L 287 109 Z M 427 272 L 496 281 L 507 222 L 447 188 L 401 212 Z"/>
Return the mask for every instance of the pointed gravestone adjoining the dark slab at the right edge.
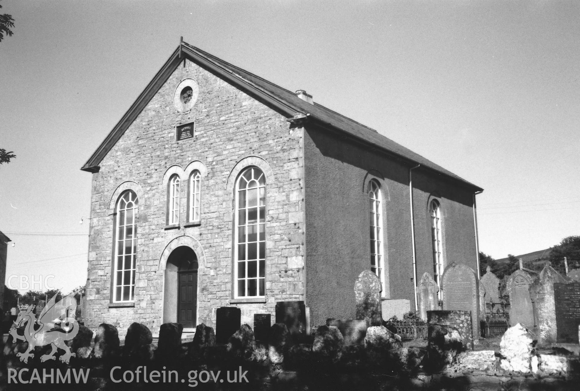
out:
<path id="1" fill-rule="evenodd" d="M 535 304 L 535 333 L 538 344 L 554 343 L 557 339 L 554 283 L 568 283 L 570 279 L 553 269 L 550 262 L 542 269 L 538 280 L 530 285 L 530 297 Z"/>

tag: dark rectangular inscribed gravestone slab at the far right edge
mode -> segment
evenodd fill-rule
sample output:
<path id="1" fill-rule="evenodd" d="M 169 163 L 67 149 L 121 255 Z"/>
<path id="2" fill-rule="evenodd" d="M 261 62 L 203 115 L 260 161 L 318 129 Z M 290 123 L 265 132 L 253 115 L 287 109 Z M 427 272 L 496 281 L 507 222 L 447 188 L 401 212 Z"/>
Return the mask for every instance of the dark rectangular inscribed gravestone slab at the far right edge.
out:
<path id="1" fill-rule="evenodd" d="M 578 343 L 580 283 L 554 284 L 557 342 Z"/>

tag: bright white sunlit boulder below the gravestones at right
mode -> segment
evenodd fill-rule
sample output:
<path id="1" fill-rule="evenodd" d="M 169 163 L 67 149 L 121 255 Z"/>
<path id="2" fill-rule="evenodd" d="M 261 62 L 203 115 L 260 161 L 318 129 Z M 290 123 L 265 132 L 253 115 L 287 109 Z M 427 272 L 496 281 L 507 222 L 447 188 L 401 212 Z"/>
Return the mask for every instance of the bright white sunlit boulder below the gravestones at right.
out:
<path id="1" fill-rule="evenodd" d="M 535 355 L 535 336 L 521 323 L 507 329 L 499 343 L 499 366 L 508 372 L 531 372 L 531 358 Z"/>

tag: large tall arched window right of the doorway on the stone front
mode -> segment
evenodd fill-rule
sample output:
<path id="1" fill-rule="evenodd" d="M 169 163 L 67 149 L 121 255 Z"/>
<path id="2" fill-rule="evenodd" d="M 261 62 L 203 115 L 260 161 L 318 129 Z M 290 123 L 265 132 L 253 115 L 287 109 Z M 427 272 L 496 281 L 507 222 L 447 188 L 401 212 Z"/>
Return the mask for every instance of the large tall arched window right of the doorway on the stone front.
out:
<path id="1" fill-rule="evenodd" d="M 266 177 L 245 169 L 235 186 L 235 297 L 264 296 L 266 289 Z"/>

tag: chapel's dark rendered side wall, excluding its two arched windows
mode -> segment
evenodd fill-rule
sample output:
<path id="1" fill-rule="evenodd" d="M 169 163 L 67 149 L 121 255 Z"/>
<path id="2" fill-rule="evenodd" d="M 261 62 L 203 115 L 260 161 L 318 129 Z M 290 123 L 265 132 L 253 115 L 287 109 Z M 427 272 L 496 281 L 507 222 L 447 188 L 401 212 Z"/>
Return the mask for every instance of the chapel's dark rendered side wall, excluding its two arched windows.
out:
<path id="1" fill-rule="evenodd" d="M 306 298 L 311 324 L 354 318 L 354 281 L 370 268 L 368 188 L 378 180 L 383 198 L 387 299 L 409 299 L 415 309 L 409 165 L 319 128 L 305 132 Z M 436 173 L 414 169 L 417 276 L 433 276 L 427 204 L 437 195 L 443 213 L 444 260 L 476 269 L 472 190 Z M 398 302 L 397 302 L 398 303 Z"/>

